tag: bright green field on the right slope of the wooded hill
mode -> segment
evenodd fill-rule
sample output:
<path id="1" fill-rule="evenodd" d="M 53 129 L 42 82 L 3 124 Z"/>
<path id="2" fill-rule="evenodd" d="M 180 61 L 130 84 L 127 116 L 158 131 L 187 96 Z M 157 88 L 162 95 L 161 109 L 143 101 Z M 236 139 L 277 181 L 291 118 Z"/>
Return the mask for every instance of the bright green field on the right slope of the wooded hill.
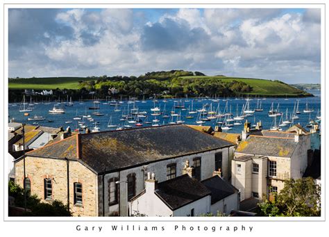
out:
<path id="1" fill-rule="evenodd" d="M 226 76 L 182 76 L 185 79 L 220 79 L 221 81 L 243 81 L 244 83 L 250 85 L 253 88 L 253 91 L 248 93 L 249 95 L 287 95 L 296 96 L 296 95 L 305 95 L 303 90 L 299 90 L 285 83 L 280 83 L 279 81 L 269 81 L 264 79 L 247 79 L 247 78 L 238 78 L 238 77 L 226 77 Z"/>

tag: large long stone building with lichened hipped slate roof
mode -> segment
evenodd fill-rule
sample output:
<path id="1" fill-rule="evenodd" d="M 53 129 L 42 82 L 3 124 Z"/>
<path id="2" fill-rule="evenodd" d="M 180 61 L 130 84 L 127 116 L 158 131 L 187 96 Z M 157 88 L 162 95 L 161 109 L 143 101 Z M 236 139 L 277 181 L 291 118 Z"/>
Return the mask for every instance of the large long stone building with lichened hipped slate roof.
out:
<path id="1" fill-rule="evenodd" d="M 15 181 L 29 182 L 43 202 L 68 203 L 74 215 L 126 216 L 130 199 L 145 189 L 147 172 L 161 183 L 185 174 L 189 161 L 195 179 L 221 169 L 227 180 L 233 147 L 183 124 L 79 133 L 26 153 L 25 177 L 19 158 Z"/>

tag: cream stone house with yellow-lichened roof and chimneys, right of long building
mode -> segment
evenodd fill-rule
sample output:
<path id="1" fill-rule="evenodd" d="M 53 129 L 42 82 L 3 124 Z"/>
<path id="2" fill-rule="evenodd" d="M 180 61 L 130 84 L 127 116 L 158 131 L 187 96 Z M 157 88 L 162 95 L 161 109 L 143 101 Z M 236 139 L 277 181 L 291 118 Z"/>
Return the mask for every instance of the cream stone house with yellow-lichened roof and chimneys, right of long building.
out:
<path id="1" fill-rule="evenodd" d="M 300 179 L 310 161 L 310 133 L 255 131 L 245 124 L 232 161 L 232 181 L 241 200 L 280 192 L 287 179 Z M 251 135 L 252 134 L 252 135 Z"/>

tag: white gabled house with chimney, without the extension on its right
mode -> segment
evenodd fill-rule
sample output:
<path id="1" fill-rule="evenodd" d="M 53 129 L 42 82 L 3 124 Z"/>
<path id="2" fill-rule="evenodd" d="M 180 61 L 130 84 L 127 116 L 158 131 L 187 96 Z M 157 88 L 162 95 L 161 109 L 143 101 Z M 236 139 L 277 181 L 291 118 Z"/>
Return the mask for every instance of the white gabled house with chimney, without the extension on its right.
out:
<path id="1" fill-rule="evenodd" d="M 197 216 L 210 212 L 210 190 L 189 174 L 158 183 L 154 173 L 148 173 L 145 184 L 145 189 L 130 199 L 130 215 Z"/>

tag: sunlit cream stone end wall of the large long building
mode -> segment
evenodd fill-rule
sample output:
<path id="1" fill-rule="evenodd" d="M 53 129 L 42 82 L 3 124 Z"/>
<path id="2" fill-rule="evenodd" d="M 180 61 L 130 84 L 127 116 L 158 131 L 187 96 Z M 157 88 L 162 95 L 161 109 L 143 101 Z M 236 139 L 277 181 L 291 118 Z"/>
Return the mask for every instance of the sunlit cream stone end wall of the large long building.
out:
<path id="1" fill-rule="evenodd" d="M 44 199 L 44 179 L 52 179 L 53 200 L 67 204 L 67 162 L 61 159 L 26 157 L 26 177 L 31 180 L 31 194 Z M 24 161 L 15 163 L 15 182 L 24 186 Z M 83 185 L 83 205 L 74 204 L 74 183 Z M 69 206 L 74 216 L 98 215 L 97 176 L 78 161 L 69 162 Z"/>

